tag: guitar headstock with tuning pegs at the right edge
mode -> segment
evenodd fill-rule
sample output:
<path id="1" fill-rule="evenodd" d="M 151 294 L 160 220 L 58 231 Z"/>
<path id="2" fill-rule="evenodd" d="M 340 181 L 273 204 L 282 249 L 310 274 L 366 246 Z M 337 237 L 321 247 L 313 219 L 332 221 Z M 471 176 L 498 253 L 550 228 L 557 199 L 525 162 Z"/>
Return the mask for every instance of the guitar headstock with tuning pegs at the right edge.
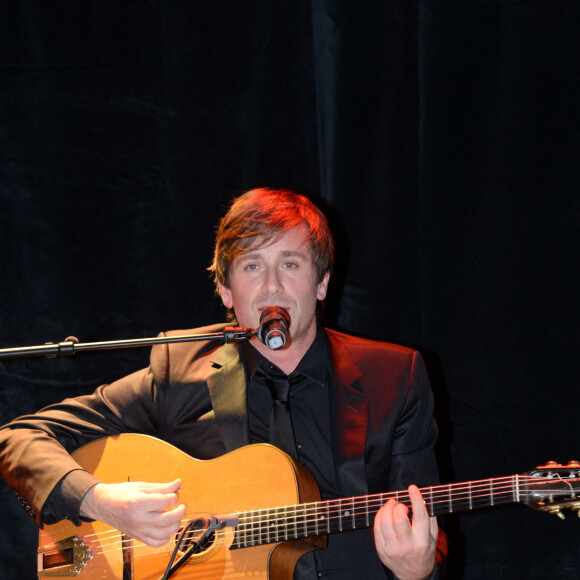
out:
<path id="1" fill-rule="evenodd" d="M 567 465 L 548 461 L 520 477 L 520 495 L 526 497 L 523 503 L 562 519 L 563 509 L 580 517 L 580 461 Z"/>

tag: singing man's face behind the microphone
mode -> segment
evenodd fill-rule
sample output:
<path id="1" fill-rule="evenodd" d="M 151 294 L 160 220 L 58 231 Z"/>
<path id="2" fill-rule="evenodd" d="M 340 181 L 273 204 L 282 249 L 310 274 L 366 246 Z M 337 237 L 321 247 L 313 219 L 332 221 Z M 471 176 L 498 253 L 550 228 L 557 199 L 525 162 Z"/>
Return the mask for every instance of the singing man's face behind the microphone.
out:
<path id="1" fill-rule="evenodd" d="M 240 326 L 258 328 L 265 308 L 281 306 L 291 320 L 289 348 L 310 346 L 316 336 L 316 301 L 326 297 L 329 274 L 317 283 L 305 226 L 236 256 L 229 278 L 229 288 L 219 284 L 220 294 L 226 308 L 234 309 Z"/>

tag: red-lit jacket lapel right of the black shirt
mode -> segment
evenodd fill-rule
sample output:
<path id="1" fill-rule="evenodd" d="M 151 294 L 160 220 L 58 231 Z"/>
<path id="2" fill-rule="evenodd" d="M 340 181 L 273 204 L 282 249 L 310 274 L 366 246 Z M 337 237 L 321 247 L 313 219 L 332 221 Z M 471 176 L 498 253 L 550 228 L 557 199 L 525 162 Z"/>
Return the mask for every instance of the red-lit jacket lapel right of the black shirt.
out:
<path id="1" fill-rule="evenodd" d="M 365 443 L 368 399 L 360 391 L 361 372 L 344 343 L 328 333 L 333 373 L 330 414 L 336 476 L 344 494 L 368 493 Z"/>

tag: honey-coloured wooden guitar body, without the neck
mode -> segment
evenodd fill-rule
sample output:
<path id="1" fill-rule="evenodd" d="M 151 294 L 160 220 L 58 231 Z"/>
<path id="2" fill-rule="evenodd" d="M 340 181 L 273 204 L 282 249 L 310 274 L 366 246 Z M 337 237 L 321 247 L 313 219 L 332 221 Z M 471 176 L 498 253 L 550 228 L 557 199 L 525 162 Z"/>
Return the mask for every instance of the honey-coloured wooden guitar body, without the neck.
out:
<path id="1" fill-rule="evenodd" d="M 89 443 L 73 457 L 105 483 L 180 478 L 183 485 L 179 501 L 187 505 L 186 518 L 191 519 L 196 515 L 234 514 L 319 499 L 312 476 L 285 453 L 266 444 L 200 461 L 153 437 L 122 434 Z M 70 546 L 69 539 L 75 537 L 86 544 L 88 556 L 84 554 L 87 548 Z M 230 549 L 233 540 L 232 528 L 217 531 L 210 545 L 194 554 L 172 578 L 292 578 L 297 559 L 316 545 L 323 545 L 321 538 L 312 538 L 311 543 L 298 540 Z M 159 580 L 174 547 L 174 540 L 152 548 L 123 539 L 120 532 L 101 522 L 84 523 L 79 528 L 62 521 L 45 526 L 40 532 L 39 578 L 78 575 L 83 580 Z M 70 555 L 73 553 L 74 558 Z M 67 558 L 68 562 L 63 562 Z M 72 560 L 81 562 L 78 572 L 70 565 Z"/>

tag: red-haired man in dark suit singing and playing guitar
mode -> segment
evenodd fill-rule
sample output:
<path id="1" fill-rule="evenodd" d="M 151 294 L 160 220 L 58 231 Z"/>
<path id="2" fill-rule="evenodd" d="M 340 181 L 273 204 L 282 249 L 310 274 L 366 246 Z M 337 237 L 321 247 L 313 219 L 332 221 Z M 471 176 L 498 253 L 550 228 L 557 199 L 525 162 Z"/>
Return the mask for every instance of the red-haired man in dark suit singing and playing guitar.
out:
<path id="1" fill-rule="evenodd" d="M 39 525 L 103 521 L 152 546 L 179 529 L 180 480 L 108 484 L 69 453 L 95 438 L 154 435 L 199 459 L 270 441 L 269 384 L 290 379 L 288 451 L 315 476 L 323 499 L 437 483 L 432 398 L 418 353 L 324 329 L 317 321 L 330 280 L 333 242 L 325 216 L 304 196 L 256 189 L 220 223 L 211 271 L 239 325 L 264 310 L 290 318 L 286 345 L 177 343 L 152 349 L 148 369 L 21 417 L 0 432 L 2 475 Z M 203 332 L 223 328 L 208 327 Z M 199 332 L 202 329 L 198 329 Z M 368 530 L 332 535 L 296 566 L 300 578 L 420 580 L 438 573 L 445 540 L 409 487 L 412 521 L 390 500 Z M 195 506 L 192 506 L 195 508 Z"/>

